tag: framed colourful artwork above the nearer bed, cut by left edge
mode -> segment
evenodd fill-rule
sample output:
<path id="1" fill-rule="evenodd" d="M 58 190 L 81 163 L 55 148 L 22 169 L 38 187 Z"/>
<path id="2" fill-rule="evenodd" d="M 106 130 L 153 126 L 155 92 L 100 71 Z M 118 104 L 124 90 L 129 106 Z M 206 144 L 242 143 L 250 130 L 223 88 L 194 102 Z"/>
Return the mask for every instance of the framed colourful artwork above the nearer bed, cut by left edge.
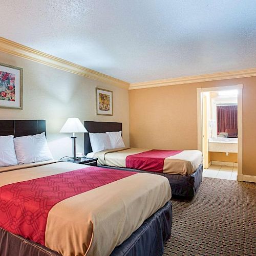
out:
<path id="1" fill-rule="evenodd" d="M 0 108 L 22 109 L 23 69 L 0 63 Z"/>

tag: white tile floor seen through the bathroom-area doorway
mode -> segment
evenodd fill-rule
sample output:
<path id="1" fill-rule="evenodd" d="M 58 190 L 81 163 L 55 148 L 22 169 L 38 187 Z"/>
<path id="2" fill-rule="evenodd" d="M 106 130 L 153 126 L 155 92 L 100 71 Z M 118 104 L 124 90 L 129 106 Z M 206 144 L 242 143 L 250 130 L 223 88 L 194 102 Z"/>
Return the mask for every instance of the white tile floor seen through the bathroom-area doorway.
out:
<path id="1" fill-rule="evenodd" d="M 211 165 L 208 169 L 203 170 L 203 177 L 237 180 L 238 167 L 224 166 L 224 165 Z"/>

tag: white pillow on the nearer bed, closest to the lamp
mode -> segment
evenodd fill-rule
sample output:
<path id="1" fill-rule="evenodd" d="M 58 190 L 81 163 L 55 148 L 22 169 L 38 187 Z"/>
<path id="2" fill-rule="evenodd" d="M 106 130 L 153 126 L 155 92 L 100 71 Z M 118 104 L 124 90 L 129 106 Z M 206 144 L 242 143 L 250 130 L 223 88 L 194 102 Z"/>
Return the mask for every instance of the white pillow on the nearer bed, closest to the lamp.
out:
<path id="1" fill-rule="evenodd" d="M 19 164 L 51 160 L 45 132 L 14 138 L 16 157 Z"/>

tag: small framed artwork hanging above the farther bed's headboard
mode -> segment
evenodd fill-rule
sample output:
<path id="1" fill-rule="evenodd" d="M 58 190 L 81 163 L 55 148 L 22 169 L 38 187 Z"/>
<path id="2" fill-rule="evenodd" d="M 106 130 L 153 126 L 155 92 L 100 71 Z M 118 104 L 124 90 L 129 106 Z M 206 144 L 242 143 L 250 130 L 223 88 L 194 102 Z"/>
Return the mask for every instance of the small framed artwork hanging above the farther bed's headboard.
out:
<path id="1" fill-rule="evenodd" d="M 97 115 L 113 115 L 113 92 L 96 88 L 96 111 Z"/>

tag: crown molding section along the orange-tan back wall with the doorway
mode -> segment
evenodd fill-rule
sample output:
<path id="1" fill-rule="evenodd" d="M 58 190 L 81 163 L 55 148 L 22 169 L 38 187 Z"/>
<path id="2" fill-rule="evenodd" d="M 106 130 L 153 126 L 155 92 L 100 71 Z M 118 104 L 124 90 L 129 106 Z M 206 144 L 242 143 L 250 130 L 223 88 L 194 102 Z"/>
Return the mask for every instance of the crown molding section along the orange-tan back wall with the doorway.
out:
<path id="1" fill-rule="evenodd" d="M 250 76 L 256 76 L 256 68 L 238 70 L 238 71 L 228 71 L 228 72 L 221 72 L 221 73 L 207 74 L 207 75 L 185 76 L 185 77 L 178 77 L 178 78 L 153 80 L 153 81 L 147 81 L 147 82 L 130 83 L 129 90 L 161 87 L 161 86 L 174 86 L 175 84 L 225 80 L 225 79 L 242 78 L 242 77 L 250 77 Z"/>

